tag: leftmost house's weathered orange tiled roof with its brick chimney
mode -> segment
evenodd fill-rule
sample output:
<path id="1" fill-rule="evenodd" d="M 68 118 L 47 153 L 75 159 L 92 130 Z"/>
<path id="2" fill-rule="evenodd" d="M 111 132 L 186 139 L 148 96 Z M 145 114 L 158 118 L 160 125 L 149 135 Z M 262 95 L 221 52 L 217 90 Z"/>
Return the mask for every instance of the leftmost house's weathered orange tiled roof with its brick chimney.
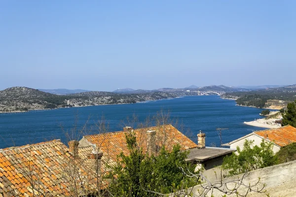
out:
<path id="1" fill-rule="evenodd" d="M 69 146 L 52 140 L 0 149 L 0 197 L 79 196 L 96 191 L 92 173 L 96 159 L 88 155 L 82 161 L 73 152 L 75 141 Z"/>

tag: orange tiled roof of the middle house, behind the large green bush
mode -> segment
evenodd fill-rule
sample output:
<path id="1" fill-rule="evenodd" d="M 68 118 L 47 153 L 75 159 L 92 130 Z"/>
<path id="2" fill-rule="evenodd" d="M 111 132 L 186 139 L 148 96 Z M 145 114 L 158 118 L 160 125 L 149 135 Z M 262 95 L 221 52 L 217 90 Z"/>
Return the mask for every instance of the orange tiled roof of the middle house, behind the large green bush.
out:
<path id="1" fill-rule="evenodd" d="M 125 135 L 130 131 L 134 131 L 139 147 L 142 147 L 143 151 L 148 152 L 150 155 L 157 155 L 163 146 L 169 151 L 173 150 L 174 145 L 177 144 L 180 144 L 181 150 L 197 147 L 192 140 L 172 125 L 160 125 L 135 130 L 131 127 L 124 127 L 123 131 L 83 136 L 79 141 L 79 155 L 82 152 L 87 153 L 91 150 L 101 152 L 103 153 L 102 161 L 105 164 L 114 164 L 121 152 L 124 155 L 129 153 Z"/>

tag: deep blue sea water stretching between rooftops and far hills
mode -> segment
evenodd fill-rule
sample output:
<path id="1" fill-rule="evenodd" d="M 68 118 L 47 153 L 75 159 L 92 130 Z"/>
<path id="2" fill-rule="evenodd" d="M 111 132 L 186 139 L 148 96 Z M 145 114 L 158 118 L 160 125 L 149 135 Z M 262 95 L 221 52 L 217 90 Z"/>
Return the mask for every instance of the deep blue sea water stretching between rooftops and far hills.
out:
<path id="1" fill-rule="evenodd" d="M 137 115 L 139 121 L 153 116 L 157 111 L 170 111 L 171 119 L 178 119 L 184 133 L 197 143 L 197 133 L 206 133 L 206 145 L 220 145 L 217 128 L 222 131 L 222 143 L 226 143 L 262 130 L 243 124 L 260 118 L 262 109 L 236 106 L 234 100 L 220 99 L 218 96 L 193 96 L 177 99 L 163 99 L 134 104 L 99 105 L 87 107 L 61 108 L 55 110 L 34 110 L 24 113 L 0 114 L 0 148 L 22 146 L 46 140 L 67 141 L 65 131 L 77 131 L 87 123 L 86 130 L 96 133 L 96 123 L 102 115 L 109 122 L 109 131 L 121 131 L 122 121 Z M 126 122 L 126 121 L 125 121 Z M 75 124 L 76 123 L 76 124 Z M 188 132 L 189 130 L 189 132 Z M 74 137 L 81 138 L 80 135 Z"/>

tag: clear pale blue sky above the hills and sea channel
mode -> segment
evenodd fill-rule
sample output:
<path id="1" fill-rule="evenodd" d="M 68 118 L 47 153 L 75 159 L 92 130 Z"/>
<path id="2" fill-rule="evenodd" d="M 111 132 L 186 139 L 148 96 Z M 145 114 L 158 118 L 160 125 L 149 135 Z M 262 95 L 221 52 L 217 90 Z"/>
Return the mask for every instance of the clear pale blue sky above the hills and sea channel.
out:
<path id="1" fill-rule="evenodd" d="M 2 0 L 0 90 L 296 84 L 295 0 Z"/>

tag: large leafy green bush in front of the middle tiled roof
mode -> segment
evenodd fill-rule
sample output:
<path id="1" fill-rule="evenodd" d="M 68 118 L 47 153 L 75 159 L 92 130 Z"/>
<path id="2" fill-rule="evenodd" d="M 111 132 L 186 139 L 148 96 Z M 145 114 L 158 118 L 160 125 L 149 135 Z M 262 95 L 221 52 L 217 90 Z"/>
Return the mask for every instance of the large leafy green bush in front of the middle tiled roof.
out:
<path id="1" fill-rule="evenodd" d="M 194 166 L 185 163 L 188 152 L 180 152 L 174 146 L 172 152 L 164 147 L 156 157 L 144 154 L 138 147 L 134 133 L 126 135 L 129 155 L 121 153 L 113 169 L 111 194 L 117 197 L 154 197 L 156 193 L 167 194 L 196 184 L 179 167 L 194 171 Z"/>

